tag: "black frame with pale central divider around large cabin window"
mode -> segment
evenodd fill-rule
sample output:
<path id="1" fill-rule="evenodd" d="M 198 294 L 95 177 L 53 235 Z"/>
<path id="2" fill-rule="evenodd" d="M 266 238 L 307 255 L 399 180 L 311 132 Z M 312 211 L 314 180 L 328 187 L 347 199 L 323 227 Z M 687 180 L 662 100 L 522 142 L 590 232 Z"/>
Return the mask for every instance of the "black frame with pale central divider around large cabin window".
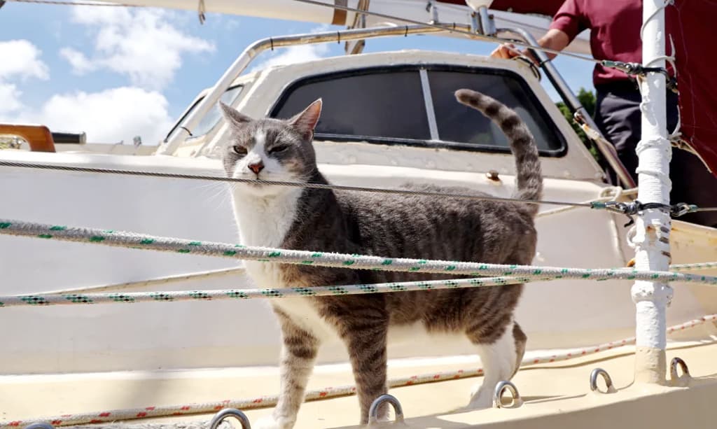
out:
<path id="1" fill-rule="evenodd" d="M 351 77 L 351 76 L 361 76 L 364 74 L 376 74 L 381 72 L 416 72 L 419 74 L 420 82 L 421 82 L 421 90 L 422 90 L 422 98 L 424 100 L 424 103 L 426 105 L 426 115 L 425 118 L 427 121 L 427 124 L 429 125 L 429 129 L 431 128 L 432 121 L 435 121 L 435 110 L 432 105 L 432 98 L 430 93 L 430 87 L 429 87 L 429 79 L 426 73 L 430 73 L 432 71 L 437 72 L 463 72 L 463 73 L 471 73 L 471 74 L 491 74 L 491 75 L 499 75 L 502 77 L 509 77 L 516 82 L 518 82 L 518 85 L 520 85 L 521 90 L 523 90 L 523 93 L 528 97 L 528 100 L 533 103 L 533 106 L 536 107 L 536 110 L 538 111 L 539 117 L 536 118 L 538 120 L 541 120 L 547 127 L 547 131 L 552 132 L 553 135 L 556 136 L 560 143 L 560 148 L 557 148 L 555 150 L 545 150 L 545 149 L 539 149 L 538 153 L 541 157 L 546 158 L 561 158 L 564 157 L 568 152 L 568 142 L 566 137 L 563 135 L 563 133 L 560 131 L 559 127 L 556 125 L 555 121 L 551 117 L 551 115 L 547 112 L 545 107 L 541 104 L 540 100 L 538 100 L 538 97 L 536 97 L 536 94 L 531 89 L 530 85 L 528 85 L 528 82 L 526 82 L 523 77 L 514 72 L 513 70 L 509 69 L 498 69 L 498 68 L 491 68 L 491 67 L 472 67 L 472 66 L 465 66 L 465 65 L 455 65 L 455 64 L 436 64 L 436 63 L 414 63 L 414 64 L 397 64 L 392 66 L 373 66 L 373 67 L 361 67 L 361 68 L 351 68 L 351 69 L 343 69 L 336 72 L 324 72 L 324 73 L 318 73 L 318 74 L 312 74 L 310 76 L 306 77 L 300 77 L 298 79 L 295 79 L 291 82 L 289 82 L 287 85 L 285 85 L 282 90 L 279 97 L 275 99 L 275 101 L 270 105 L 270 107 L 267 109 L 267 117 L 276 117 L 277 112 L 285 105 L 285 102 L 288 100 L 288 97 L 290 95 L 290 92 L 293 92 L 295 88 L 300 87 L 302 85 L 307 85 L 314 82 L 323 82 L 326 80 L 331 79 L 341 79 L 342 77 Z M 425 76 L 425 78 L 424 78 Z M 479 145 L 475 143 L 461 143 L 461 142 L 451 142 L 446 140 L 419 140 L 419 139 L 409 139 L 409 138 L 383 138 L 383 137 L 374 137 L 374 136 L 366 136 L 366 135 L 338 135 L 338 134 L 331 134 L 331 133 L 320 133 L 317 132 L 314 135 L 314 139 L 317 141 L 335 141 L 335 142 L 365 142 L 365 143 L 371 143 L 371 144 L 377 144 L 377 145 L 404 145 L 404 146 L 411 146 L 411 147 L 417 147 L 417 148 L 440 148 L 440 149 L 452 149 L 452 150 L 460 150 L 460 151 L 467 151 L 467 152 L 480 152 L 480 153 L 511 153 L 511 149 L 507 146 L 505 147 L 498 147 L 493 145 Z"/>

